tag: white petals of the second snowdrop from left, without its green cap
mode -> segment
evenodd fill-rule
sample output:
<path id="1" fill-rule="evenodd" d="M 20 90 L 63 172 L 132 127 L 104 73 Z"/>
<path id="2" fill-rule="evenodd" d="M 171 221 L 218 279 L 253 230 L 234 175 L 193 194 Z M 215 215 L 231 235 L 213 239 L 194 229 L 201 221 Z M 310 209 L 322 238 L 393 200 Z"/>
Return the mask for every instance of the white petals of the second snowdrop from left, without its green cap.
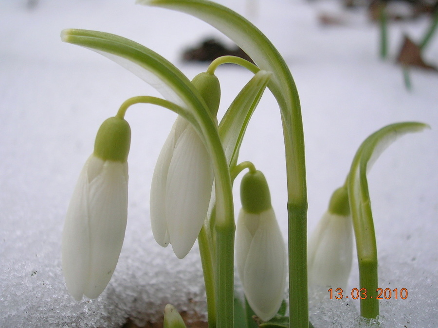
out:
<path id="1" fill-rule="evenodd" d="M 207 215 L 213 185 L 207 149 L 182 117 L 172 126 L 152 177 L 150 217 L 155 240 L 183 259 Z"/>

